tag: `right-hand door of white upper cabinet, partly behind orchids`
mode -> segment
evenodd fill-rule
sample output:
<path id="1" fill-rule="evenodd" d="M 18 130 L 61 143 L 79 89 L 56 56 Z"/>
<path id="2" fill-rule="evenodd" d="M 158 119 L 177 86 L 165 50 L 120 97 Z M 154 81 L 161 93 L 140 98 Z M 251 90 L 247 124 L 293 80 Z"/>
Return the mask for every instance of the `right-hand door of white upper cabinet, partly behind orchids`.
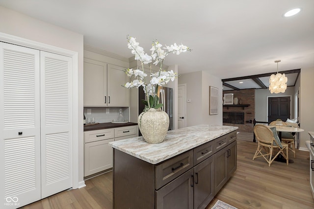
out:
<path id="1" fill-rule="evenodd" d="M 129 81 L 125 68 L 108 65 L 107 96 L 108 106 L 129 107 L 130 90 L 123 86 Z"/>

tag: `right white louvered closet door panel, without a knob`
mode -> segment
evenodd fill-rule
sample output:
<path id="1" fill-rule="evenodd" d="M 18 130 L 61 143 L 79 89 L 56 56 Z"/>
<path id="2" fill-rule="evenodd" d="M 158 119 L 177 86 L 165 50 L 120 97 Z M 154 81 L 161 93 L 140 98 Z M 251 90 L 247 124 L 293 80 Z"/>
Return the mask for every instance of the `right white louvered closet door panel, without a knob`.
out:
<path id="1" fill-rule="evenodd" d="M 42 198 L 72 187 L 72 58 L 41 51 Z"/>

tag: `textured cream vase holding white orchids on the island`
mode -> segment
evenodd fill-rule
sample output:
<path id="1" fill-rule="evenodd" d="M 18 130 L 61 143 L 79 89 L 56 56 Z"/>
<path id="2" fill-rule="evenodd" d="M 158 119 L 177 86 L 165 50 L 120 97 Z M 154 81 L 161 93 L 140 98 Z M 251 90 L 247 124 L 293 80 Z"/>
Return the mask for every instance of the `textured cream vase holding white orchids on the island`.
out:
<path id="1" fill-rule="evenodd" d="M 156 144 L 162 142 L 167 135 L 169 116 L 160 108 L 151 108 L 138 116 L 137 123 L 145 141 Z"/>

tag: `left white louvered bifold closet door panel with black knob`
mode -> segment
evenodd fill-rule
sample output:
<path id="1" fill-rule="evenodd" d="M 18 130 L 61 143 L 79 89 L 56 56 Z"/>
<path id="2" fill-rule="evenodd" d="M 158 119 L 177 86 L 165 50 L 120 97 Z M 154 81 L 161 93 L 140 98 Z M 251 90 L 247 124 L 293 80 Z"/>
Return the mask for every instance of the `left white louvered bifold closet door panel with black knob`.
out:
<path id="1" fill-rule="evenodd" d="M 0 42 L 0 208 L 41 197 L 39 61 L 39 50 Z"/>

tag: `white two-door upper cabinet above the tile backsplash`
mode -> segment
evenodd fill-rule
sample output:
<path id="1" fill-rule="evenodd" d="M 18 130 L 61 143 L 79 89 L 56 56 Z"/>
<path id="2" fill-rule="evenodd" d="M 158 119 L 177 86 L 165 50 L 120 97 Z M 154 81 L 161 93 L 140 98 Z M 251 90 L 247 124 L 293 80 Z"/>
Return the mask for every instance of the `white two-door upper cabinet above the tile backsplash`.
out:
<path id="1" fill-rule="evenodd" d="M 84 106 L 129 107 L 129 77 L 125 68 L 84 59 Z"/>

